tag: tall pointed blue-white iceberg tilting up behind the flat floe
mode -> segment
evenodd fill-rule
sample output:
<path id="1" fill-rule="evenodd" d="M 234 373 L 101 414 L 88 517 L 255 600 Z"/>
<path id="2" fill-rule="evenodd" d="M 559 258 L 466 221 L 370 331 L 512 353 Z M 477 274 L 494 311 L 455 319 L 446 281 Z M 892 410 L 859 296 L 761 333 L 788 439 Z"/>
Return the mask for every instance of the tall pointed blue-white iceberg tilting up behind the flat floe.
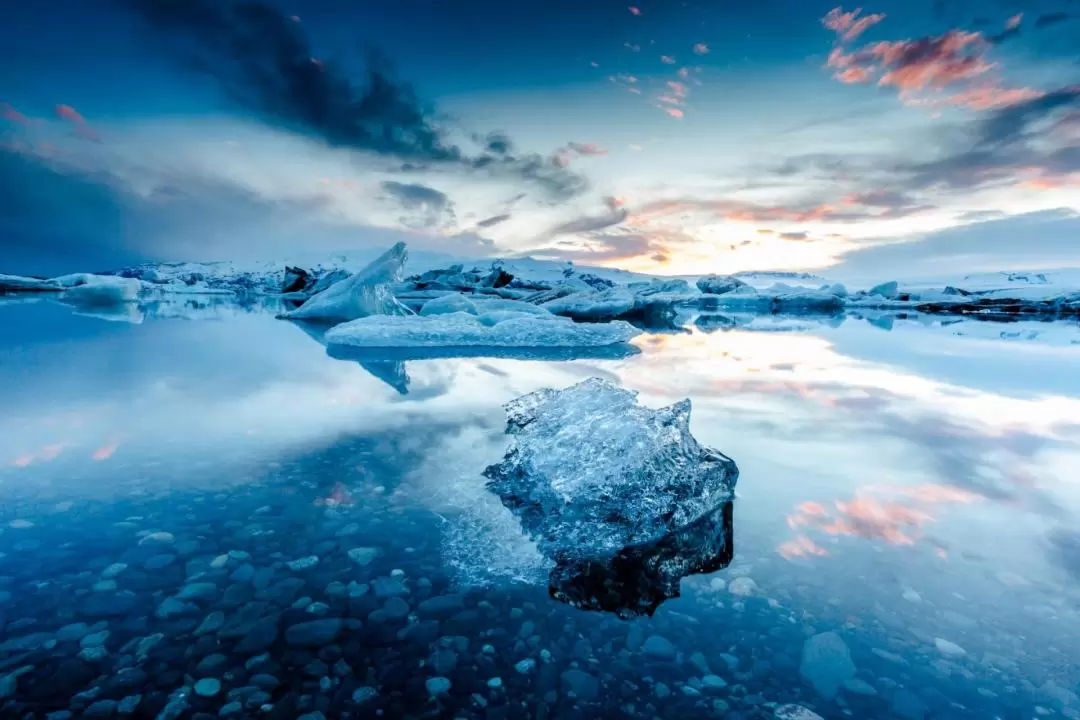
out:
<path id="1" fill-rule="evenodd" d="M 397 243 L 355 275 L 334 283 L 283 316 L 345 323 L 367 315 L 409 315 L 413 311 L 394 299 L 390 287 L 401 281 L 407 257 L 405 243 Z"/>

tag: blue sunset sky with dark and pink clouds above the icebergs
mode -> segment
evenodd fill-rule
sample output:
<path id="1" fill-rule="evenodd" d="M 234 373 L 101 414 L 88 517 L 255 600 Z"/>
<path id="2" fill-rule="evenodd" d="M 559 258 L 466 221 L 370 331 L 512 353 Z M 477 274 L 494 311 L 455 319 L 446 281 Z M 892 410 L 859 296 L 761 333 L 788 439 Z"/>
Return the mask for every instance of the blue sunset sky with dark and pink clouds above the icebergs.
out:
<path id="1" fill-rule="evenodd" d="M 1080 266 L 1080 0 L 632 2 L 13 5 L 0 272 Z"/>

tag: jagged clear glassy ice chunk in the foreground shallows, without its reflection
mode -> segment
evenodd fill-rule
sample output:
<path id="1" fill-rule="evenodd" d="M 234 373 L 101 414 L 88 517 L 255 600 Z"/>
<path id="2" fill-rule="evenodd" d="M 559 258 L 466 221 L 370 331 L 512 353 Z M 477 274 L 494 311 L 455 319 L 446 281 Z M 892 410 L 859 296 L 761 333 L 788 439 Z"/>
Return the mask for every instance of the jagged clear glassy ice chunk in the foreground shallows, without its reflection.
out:
<path id="1" fill-rule="evenodd" d="M 484 475 L 553 558 L 656 542 L 731 500 L 739 470 L 690 434 L 689 400 L 653 410 L 591 378 L 505 408 L 516 437 Z"/>

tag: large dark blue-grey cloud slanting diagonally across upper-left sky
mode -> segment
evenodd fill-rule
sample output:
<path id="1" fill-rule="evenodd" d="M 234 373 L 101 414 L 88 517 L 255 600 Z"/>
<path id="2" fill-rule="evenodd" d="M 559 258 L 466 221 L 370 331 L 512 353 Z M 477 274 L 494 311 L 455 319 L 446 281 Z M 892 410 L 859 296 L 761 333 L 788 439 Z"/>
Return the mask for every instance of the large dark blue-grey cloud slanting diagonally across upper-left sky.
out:
<path id="1" fill-rule="evenodd" d="M 154 43 L 175 51 L 187 67 L 214 78 L 234 103 L 262 121 L 301 132 L 330 146 L 407 161 L 403 169 L 458 164 L 517 176 L 558 200 L 588 186 L 539 154 L 512 154 L 505 135 L 483 138 L 470 155 L 446 138 L 432 108 L 393 77 L 372 53 L 356 81 L 346 68 L 318 56 L 303 24 L 258 0 L 121 0 L 162 35 Z"/>

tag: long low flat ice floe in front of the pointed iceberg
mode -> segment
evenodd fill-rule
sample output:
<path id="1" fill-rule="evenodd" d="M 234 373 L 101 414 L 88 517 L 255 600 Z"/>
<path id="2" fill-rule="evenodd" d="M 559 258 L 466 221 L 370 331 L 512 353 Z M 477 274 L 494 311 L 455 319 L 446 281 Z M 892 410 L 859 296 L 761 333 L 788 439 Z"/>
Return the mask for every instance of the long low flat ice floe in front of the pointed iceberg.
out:
<path id="1" fill-rule="evenodd" d="M 326 332 L 328 345 L 354 348 L 598 348 L 640 335 L 627 323 L 579 324 L 567 317 L 499 311 L 482 315 L 372 315 Z"/>

